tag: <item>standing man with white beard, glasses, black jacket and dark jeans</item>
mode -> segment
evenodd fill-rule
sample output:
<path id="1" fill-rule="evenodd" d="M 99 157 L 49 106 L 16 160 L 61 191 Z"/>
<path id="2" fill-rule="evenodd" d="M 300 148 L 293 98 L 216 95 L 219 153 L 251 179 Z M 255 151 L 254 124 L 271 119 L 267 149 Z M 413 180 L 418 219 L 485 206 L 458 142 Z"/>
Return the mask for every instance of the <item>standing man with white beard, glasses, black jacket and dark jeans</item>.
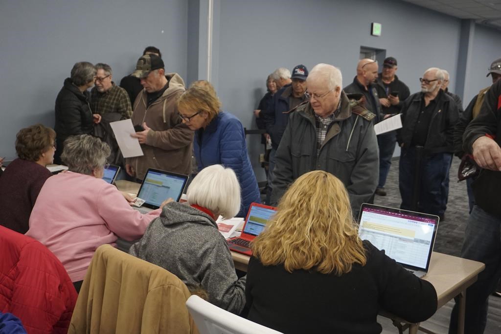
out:
<path id="1" fill-rule="evenodd" d="M 397 132 L 400 154 L 398 185 L 400 208 L 435 214 L 444 220 L 452 159 L 454 125 L 459 117 L 456 103 L 440 89 L 443 72 L 426 70 L 421 92 L 409 96 L 401 110 L 402 129 Z M 414 182 L 416 173 L 420 174 Z M 418 189 L 415 189 L 418 188 Z"/>

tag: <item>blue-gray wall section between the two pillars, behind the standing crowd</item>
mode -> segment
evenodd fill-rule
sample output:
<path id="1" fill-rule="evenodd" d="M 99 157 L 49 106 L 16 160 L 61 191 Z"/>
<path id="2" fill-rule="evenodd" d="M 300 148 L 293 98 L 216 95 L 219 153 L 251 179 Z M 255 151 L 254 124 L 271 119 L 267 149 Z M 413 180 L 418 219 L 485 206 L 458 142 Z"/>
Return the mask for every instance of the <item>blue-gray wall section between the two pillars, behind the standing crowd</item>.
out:
<path id="1" fill-rule="evenodd" d="M 382 24 L 381 37 L 370 36 L 371 22 Z M 255 128 L 252 111 L 269 73 L 328 63 L 341 69 L 346 86 L 355 76 L 360 46 L 386 49 L 397 58 L 397 75 L 416 92 L 418 78 L 431 66 L 455 73 L 459 33 L 459 19 L 400 1 L 221 0 L 217 92 L 225 110 Z M 258 136 L 248 141 L 263 180 L 257 159 L 263 148 Z"/>

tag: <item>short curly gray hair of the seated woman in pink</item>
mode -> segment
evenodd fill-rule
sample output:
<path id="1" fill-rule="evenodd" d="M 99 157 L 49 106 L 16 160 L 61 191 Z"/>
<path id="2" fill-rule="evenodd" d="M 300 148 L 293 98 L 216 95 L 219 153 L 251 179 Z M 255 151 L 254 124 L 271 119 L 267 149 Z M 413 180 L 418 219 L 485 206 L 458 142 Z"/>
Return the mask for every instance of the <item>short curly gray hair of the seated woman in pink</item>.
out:
<path id="1" fill-rule="evenodd" d="M 110 153 L 110 147 L 101 139 L 91 135 L 77 135 L 64 141 L 61 159 L 70 171 L 91 175 L 93 170 L 104 167 Z"/>

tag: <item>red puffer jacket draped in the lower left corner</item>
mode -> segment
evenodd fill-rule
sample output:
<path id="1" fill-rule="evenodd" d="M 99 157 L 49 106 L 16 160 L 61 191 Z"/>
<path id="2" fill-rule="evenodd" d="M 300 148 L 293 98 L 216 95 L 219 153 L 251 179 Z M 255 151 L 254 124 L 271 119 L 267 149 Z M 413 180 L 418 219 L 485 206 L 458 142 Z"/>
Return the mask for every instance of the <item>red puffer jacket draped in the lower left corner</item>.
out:
<path id="1" fill-rule="evenodd" d="M 29 334 L 66 333 L 77 292 L 61 261 L 40 242 L 0 226 L 0 311 Z"/>

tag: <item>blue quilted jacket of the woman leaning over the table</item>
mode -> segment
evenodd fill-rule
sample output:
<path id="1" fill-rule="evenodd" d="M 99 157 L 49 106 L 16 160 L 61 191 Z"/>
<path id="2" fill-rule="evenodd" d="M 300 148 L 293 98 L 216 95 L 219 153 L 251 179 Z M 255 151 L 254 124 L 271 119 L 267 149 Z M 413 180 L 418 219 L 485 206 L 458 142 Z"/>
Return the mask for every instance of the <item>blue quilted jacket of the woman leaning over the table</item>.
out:
<path id="1" fill-rule="evenodd" d="M 205 129 L 195 132 L 193 148 L 199 171 L 221 164 L 235 172 L 241 189 L 237 217 L 245 217 L 250 203 L 261 203 L 258 181 L 247 154 L 243 126 L 235 116 L 220 112 Z"/>

